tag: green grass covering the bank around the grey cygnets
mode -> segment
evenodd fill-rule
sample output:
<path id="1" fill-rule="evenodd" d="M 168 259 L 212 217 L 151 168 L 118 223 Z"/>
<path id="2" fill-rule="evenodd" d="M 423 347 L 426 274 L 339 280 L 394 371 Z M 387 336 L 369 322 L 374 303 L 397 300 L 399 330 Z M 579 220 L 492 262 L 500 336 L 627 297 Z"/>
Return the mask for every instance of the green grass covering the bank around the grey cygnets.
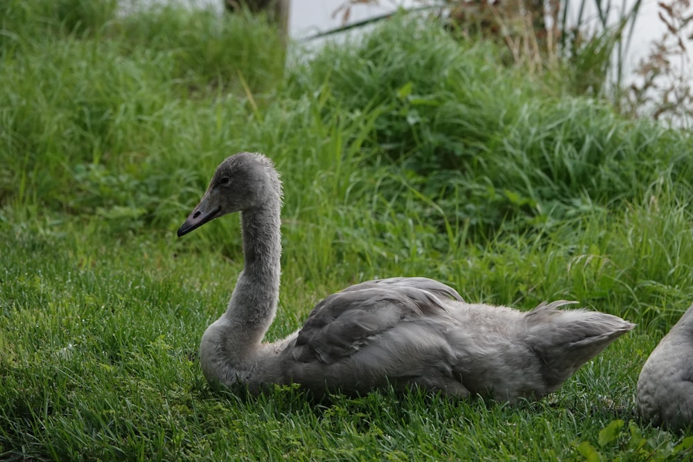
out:
<path id="1" fill-rule="evenodd" d="M 689 454 L 634 401 L 693 301 L 688 134 L 524 78 L 434 24 L 394 18 L 281 71 L 261 20 L 95 4 L 0 6 L 0 459 Z M 269 154 L 285 185 L 269 339 L 326 294 L 398 275 L 521 309 L 577 299 L 638 329 L 514 407 L 213 393 L 196 352 L 241 269 L 238 220 L 175 229 L 240 150 Z"/>

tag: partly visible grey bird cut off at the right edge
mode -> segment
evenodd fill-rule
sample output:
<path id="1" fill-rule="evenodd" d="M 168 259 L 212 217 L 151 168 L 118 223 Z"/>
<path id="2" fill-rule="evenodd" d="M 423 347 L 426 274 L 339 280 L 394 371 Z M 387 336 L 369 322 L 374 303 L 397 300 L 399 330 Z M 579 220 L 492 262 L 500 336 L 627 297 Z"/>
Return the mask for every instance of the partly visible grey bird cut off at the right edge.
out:
<path id="1" fill-rule="evenodd" d="M 645 361 L 636 393 L 640 416 L 653 425 L 693 423 L 693 305 Z"/>

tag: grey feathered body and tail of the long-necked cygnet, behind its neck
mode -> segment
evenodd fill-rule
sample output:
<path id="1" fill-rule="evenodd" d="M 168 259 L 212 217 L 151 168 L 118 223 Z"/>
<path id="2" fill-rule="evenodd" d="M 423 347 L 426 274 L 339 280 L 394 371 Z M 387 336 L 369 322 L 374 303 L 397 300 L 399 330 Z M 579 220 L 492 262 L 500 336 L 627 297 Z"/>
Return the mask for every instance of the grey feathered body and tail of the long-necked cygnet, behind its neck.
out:
<path id="1" fill-rule="evenodd" d="M 541 398 L 633 328 L 610 314 L 557 310 L 564 301 L 520 312 L 465 303 L 441 287 L 383 287 L 364 285 L 319 304 L 286 350 L 284 380 L 316 393 L 391 384 L 511 402 Z"/>

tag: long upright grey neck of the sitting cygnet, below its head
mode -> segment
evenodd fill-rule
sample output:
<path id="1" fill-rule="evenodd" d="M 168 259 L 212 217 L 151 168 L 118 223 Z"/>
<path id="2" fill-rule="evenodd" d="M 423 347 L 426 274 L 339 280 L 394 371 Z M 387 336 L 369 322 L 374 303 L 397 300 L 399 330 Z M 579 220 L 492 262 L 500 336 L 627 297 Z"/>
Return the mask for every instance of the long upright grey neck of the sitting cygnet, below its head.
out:
<path id="1" fill-rule="evenodd" d="M 281 258 L 280 199 L 241 215 L 245 265 L 222 319 L 232 332 L 225 336 L 227 354 L 252 361 L 277 313 Z"/>

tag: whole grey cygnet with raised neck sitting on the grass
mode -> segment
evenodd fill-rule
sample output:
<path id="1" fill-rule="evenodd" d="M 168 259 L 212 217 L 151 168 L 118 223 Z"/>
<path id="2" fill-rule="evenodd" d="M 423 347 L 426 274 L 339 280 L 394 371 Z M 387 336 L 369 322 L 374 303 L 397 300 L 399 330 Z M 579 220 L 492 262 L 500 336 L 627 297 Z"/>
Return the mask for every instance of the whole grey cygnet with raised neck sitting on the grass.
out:
<path id="1" fill-rule="evenodd" d="M 181 237 L 240 212 L 243 270 L 225 312 L 204 331 L 199 358 L 212 388 L 256 395 L 298 384 L 316 397 L 418 387 L 452 398 L 538 400 L 635 325 L 570 301 L 533 310 L 467 303 L 424 277 L 365 281 L 326 296 L 304 326 L 263 341 L 277 313 L 282 184 L 269 157 L 231 155 L 216 169 Z"/>

